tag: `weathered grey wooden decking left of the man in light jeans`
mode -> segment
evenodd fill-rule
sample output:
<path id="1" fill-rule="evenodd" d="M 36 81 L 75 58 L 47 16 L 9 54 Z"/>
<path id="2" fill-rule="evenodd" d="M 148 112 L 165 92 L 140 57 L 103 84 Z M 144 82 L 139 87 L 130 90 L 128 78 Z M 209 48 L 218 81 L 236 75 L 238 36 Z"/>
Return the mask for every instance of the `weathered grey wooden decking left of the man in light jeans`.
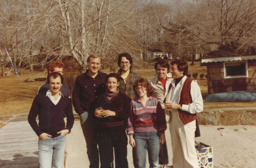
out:
<path id="1" fill-rule="evenodd" d="M 0 167 L 35 168 L 38 165 L 38 137 L 27 116 L 12 118 L 0 129 Z"/>

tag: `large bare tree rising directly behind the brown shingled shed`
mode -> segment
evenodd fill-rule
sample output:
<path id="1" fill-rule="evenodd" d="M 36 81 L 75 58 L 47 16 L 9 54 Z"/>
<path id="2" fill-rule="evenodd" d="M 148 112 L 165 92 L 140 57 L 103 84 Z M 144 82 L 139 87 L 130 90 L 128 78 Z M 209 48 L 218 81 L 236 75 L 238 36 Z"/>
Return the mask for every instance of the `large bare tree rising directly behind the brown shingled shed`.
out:
<path id="1" fill-rule="evenodd" d="M 250 0 L 213 0 L 207 2 L 209 17 L 221 46 L 233 43 L 255 45 L 256 2 Z"/>

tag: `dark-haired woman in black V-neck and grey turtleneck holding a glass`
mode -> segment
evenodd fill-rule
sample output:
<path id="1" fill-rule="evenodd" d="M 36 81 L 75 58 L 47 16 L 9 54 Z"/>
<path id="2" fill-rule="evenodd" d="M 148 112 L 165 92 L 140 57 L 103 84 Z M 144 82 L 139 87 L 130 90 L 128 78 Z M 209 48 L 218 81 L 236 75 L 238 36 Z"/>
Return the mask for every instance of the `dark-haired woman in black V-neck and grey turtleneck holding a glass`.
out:
<path id="1" fill-rule="evenodd" d="M 94 116 L 99 117 L 99 153 L 101 168 L 128 168 L 127 135 L 125 133 L 130 103 L 128 97 L 119 91 L 120 77 L 110 73 L 106 77 L 105 94 L 97 96 L 93 103 Z M 102 108 L 102 109 L 101 109 Z M 99 112 L 101 112 L 99 114 Z"/>

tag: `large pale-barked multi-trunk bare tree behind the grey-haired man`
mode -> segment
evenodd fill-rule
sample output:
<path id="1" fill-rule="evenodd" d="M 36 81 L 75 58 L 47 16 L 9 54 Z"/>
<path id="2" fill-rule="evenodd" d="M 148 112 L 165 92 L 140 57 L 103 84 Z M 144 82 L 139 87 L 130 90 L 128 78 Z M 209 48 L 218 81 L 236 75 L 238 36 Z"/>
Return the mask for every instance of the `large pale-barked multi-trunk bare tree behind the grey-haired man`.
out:
<path id="1" fill-rule="evenodd" d="M 49 20 L 47 28 L 61 31 L 64 45 L 69 47 L 81 72 L 86 71 L 86 61 L 90 53 L 97 52 L 105 62 L 110 63 L 113 55 L 125 48 L 122 44 L 127 38 L 124 28 L 130 18 L 137 14 L 131 5 L 136 1 L 52 2 L 56 4 L 52 4 L 48 9 L 49 4 L 38 9 Z"/>

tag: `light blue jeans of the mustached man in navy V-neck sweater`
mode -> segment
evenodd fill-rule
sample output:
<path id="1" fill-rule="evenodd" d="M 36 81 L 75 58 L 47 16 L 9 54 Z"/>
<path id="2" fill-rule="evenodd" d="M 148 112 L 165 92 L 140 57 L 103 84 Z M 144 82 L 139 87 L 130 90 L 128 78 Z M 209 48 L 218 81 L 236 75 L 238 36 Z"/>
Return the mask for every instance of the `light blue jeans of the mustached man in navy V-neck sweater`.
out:
<path id="1" fill-rule="evenodd" d="M 38 156 L 40 168 L 62 168 L 66 136 L 38 139 Z"/>

